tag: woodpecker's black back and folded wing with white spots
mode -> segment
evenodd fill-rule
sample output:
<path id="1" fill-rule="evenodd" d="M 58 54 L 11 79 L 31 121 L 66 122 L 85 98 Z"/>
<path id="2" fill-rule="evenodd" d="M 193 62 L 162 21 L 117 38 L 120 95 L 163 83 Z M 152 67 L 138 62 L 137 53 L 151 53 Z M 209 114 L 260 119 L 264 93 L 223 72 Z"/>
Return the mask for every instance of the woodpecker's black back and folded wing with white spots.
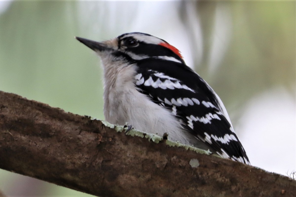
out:
<path id="1" fill-rule="evenodd" d="M 137 65 L 136 87 L 143 94 L 171 109 L 186 130 L 221 157 L 250 164 L 223 103 L 197 73 L 175 61 L 145 59 Z"/>

